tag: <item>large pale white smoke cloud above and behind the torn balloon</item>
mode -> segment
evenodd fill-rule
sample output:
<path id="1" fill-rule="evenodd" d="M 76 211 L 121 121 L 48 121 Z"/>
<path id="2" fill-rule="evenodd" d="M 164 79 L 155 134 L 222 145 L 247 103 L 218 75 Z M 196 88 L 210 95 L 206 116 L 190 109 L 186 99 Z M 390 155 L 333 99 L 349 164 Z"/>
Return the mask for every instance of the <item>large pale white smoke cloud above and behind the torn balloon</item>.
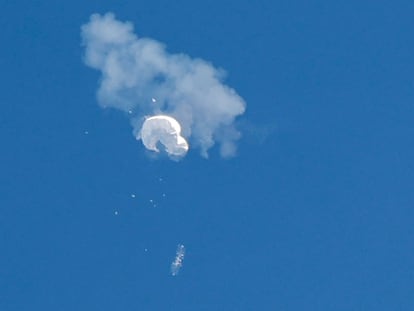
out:
<path id="1" fill-rule="evenodd" d="M 163 115 L 181 125 L 183 139 L 203 156 L 215 143 L 222 156 L 234 155 L 240 137 L 234 121 L 245 102 L 222 83 L 222 70 L 202 59 L 169 54 L 162 43 L 136 36 L 130 22 L 112 13 L 93 14 L 81 35 L 86 65 L 102 73 L 99 104 L 126 112 L 137 139 L 143 138 L 148 116 Z M 165 147 L 168 153 L 171 148 Z"/>

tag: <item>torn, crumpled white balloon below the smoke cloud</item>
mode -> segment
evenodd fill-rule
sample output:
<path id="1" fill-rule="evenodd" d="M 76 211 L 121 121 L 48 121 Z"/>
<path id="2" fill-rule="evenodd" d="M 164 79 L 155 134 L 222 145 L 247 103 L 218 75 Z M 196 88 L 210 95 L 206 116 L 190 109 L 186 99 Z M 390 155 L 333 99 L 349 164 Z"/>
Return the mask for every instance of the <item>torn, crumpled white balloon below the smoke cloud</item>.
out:
<path id="1" fill-rule="evenodd" d="M 142 124 L 137 139 L 141 139 L 147 149 L 155 152 L 160 152 L 157 144 L 161 143 L 168 155 L 171 156 L 182 157 L 188 151 L 188 143 L 181 136 L 180 123 L 166 115 L 147 118 Z"/>

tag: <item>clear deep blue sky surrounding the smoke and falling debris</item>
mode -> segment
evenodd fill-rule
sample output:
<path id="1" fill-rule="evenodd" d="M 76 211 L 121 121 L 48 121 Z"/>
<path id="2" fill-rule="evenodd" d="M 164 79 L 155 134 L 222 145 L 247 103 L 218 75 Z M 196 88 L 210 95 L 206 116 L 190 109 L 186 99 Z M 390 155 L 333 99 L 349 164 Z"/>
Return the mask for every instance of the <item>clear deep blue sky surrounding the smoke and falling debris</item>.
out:
<path id="1" fill-rule="evenodd" d="M 413 310 L 411 1 L 2 10 L 1 310 Z M 106 12 L 227 71 L 236 157 L 154 159 L 99 107 Z"/>

